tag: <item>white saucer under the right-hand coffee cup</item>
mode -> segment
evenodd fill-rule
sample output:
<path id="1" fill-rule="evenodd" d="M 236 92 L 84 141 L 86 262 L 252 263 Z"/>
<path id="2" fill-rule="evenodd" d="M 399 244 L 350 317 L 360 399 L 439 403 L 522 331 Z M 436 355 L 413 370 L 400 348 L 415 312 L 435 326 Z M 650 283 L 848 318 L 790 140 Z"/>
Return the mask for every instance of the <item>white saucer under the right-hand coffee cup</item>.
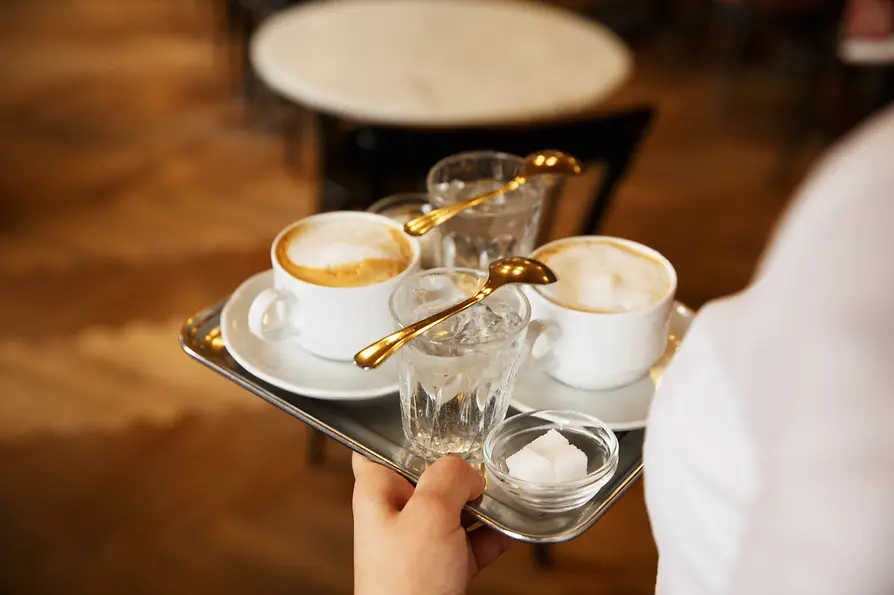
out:
<path id="1" fill-rule="evenodd" d="M 689 330 L 695 313 L 674 303 L 667 350 L 649 374 L 626 386 L 610 390 L 581 390 L 562 384 L 542 371 L 523 372 L 512 393 L 512 407 L 527 413 L 542 409 L 571 409 L 602 420 L 615 431 L 646 426 L 655 386 Z"/>

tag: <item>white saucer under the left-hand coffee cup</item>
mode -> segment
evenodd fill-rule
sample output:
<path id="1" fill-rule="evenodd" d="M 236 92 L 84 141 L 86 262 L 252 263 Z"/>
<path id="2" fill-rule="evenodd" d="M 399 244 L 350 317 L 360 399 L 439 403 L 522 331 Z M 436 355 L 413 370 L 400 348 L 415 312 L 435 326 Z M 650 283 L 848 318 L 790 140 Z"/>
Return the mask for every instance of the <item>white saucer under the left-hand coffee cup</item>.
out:
<path id="1" fill-rule="evenodd" d="M 305 351 L 294 339 L 266 343 L 248 330 L 248 308 L 273 284 L 268 270 L 245 281 L 223 308 L 220 330 L 227 351 L 240 366 L 273 386 L 318 399 L 357 401 L 397 392 L 397 367 L 387 361 L 374 370 L 335 362 Z"/>

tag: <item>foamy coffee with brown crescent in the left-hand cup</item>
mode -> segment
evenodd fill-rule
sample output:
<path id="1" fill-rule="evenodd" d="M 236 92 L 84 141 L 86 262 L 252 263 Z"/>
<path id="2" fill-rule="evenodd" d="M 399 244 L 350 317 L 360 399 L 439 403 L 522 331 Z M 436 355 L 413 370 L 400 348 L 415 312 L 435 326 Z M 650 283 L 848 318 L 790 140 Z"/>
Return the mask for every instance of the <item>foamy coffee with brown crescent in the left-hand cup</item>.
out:
<path id="1" fill-rule="evenodd" d="M 413 261 L 402 231 L 360 219 L 299 223 L 279 238 L 274 254 L 293 277 L 325 287 L 381 283 Z"/>

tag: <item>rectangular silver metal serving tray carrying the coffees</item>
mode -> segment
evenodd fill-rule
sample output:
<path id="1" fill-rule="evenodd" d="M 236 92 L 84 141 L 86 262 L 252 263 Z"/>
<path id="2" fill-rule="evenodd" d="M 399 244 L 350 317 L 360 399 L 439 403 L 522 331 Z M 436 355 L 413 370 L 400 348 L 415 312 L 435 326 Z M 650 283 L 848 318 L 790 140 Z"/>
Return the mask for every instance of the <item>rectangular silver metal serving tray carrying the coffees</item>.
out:
<path id="1" fill-rule="evenodd" d="M 180 345 L 194 359 L 279 407 L 348 448 L 366 455 L 414 484 L 425 462 L 409 448 L 401 429 L 397 395 L 365 402 L 335 402 L 293 394 L 249 374 L 227 352 L 220 331 L 226 300 L 187 320 Z M 509 411 L 509 415 L 517 413 Z M 513 503 L 490 483 L 484 496 L 466 511 L 484 525 L 521 541 L 555 543 L 573 539 L 589 529 L 642 473 L 644 430 L 618 432 L 618 469 L 611 481 L 584 506 L 571 512 L 541 514 Z"/>

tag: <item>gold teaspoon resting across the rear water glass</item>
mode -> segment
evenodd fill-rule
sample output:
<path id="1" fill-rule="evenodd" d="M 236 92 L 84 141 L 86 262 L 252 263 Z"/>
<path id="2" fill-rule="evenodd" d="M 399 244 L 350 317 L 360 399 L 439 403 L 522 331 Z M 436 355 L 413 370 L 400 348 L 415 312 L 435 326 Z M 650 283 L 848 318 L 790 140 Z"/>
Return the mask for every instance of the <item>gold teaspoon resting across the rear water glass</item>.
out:
<path id="1" fill-rule="evenodd" d="M 539 151 L 537 153 L 532 153 L 525 158 L 521 173 L 507 182 L 502 188 L 492 190 L 491 192 L 485 192 L 484 194 L 467 200 L 451 203 L 440 209 L 429 211 L 425 215 L 407 221 L 404 224 L 404 231 L 409 235 L 416 237 L 425 235 L 433 228 L 441 225 L 448 219 L 452 219 L 470 207 L 478 206 L 495 196 L 512 192 L 522 184 L 527 183 L 533 176 L 543 174 L 576 176 L 579 175 L 580 172 L 581 166 L 578 160 L 561 151 Z"/>

